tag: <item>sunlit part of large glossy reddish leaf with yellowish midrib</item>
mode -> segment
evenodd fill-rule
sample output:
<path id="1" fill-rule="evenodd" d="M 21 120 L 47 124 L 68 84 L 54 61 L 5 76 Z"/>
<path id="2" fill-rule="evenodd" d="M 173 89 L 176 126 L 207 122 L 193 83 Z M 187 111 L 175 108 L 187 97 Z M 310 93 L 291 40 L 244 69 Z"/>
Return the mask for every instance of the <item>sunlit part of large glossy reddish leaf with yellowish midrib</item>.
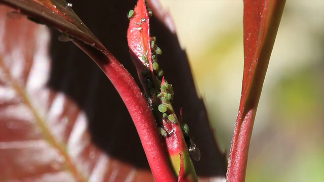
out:
<path id="1" fill-rule="evenodd" d="M 148 179 L 149 171 L 110 158 L 92 143 L 85 112 L 47 87 L 48 29 L 8 18 L 12 11 L 0 7 L 1 180 Z"/>

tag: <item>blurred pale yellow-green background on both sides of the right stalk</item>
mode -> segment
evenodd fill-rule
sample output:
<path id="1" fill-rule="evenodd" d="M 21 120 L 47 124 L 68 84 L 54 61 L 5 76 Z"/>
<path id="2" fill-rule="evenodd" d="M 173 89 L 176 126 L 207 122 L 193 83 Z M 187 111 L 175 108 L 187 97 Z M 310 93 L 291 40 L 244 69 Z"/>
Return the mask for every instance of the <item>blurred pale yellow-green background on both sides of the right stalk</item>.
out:
<path id="1" fill-rule="evenodd" d="M 160 1 L 174 18 L 221 149 L 242 70 L 243 2 Z M 255 120 L 246 181 L 324 181 L 324 1 L 287 1 Z"/>

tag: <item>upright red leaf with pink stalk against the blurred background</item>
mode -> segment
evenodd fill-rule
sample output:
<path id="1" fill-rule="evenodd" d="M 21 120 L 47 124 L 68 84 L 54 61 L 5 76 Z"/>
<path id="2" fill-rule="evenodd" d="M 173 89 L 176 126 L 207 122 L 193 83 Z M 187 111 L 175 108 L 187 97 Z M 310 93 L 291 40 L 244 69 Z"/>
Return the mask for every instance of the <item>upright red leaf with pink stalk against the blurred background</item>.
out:
<path id="1" fill-rule="evenodd" d="M 286 1 L 244 1 L 244 75 L 226 178 L 244 181 L 255 114 Z"/>

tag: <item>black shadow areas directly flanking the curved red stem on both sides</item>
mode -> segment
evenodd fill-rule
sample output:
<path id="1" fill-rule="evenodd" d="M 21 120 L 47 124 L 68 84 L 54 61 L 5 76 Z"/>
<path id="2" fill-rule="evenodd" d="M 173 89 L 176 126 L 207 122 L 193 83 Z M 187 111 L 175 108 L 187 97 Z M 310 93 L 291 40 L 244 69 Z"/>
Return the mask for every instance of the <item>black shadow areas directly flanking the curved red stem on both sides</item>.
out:
<path id="1" fill-rule="evenodd" d="M 123 2 L 120 5 L 109 2 L 106 6 L 103 4 L 108 3 L 71 3 L 73 10 L 106 48 L 134 73 L 126 39 L 129 20 L 124 12 L 132 9 L 135 3 L 128 3 L 126 7 L 122 6 Z M 87 6 L 84 7 L 83 4 Z M 120 10 L 121 7 L 123 9 Z M 72 42 L 59 42 L 60 32 L 52 32 L 52 71 L 49 86 L 66 94 L 85 111 L 94 143 L 110 157 L 149 170 L 134 123 L 109 79 Z"/>

